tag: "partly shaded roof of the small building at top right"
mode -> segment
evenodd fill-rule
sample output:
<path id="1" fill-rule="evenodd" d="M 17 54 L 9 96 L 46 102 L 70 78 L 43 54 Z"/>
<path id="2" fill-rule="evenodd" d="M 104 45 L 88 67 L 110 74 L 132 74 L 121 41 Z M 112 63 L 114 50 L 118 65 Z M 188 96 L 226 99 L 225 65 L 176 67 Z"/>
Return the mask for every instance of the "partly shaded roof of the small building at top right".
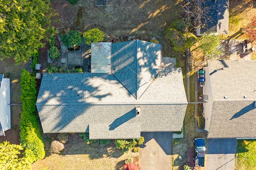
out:
<path id="1" fill-rule="evenodd" d="M 208 8 L 202 17 L 202 28 L 199 34 L 228 34 L 229 1 L 228 0 L 201 0 L 202 6 Z"/>

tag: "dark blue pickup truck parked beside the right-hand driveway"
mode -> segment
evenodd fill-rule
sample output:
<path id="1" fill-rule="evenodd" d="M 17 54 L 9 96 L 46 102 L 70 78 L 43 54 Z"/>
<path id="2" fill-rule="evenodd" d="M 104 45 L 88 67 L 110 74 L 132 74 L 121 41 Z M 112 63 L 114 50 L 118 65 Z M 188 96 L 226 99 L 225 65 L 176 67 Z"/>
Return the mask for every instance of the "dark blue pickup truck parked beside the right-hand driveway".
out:
<path id="1" fill-rule="evenodd" d="M 193 140 L 195 145 L 195 156 L 193 157 L 195 167 L 204 166 L 204 155 L 205 155 L 205 139 L 196 138 Z"/>

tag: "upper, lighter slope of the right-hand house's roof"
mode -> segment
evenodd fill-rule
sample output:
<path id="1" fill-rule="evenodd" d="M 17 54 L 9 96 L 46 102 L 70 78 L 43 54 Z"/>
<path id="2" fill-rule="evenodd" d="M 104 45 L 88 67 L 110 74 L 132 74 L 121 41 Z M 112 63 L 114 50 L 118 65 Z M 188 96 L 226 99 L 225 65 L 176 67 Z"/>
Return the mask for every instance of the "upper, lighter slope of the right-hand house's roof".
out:
<path id="1" fill-rule="evenodd" d="M 208 61 L 214 100 L 256 99 L 255 60 L 213 60 Z M 216 71 L 216 69 L 224 70 Z"/>

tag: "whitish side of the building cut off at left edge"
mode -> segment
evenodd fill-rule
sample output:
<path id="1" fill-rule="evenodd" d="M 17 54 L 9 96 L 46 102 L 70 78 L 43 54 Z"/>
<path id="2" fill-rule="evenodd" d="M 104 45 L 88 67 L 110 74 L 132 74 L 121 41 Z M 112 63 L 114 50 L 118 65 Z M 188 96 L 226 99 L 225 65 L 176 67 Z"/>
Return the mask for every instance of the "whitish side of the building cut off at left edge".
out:
<path id="1" fill-rule="evenodd" d="M 0 89 L 0 120 L 3 131 L 11 129 L 10 79 L 3 78 Z"/>

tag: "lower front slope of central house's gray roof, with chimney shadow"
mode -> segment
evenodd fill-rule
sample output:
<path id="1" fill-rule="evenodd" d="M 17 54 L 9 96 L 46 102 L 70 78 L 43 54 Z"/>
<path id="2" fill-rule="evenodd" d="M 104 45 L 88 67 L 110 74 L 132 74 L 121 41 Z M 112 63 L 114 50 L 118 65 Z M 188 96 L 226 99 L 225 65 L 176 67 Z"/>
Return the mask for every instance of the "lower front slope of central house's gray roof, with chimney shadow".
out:
<path id="1" fill-rule="evenodd" d="M 140 116 L 136 116 L 136 106 L 141 107 Z M 180 131 L 186 106 L 74 104 L 37 105 L 37 108 L 44 133 L 86 131 L 91 139 L 99 139 L 137 138 L 141 131 Z"/>

